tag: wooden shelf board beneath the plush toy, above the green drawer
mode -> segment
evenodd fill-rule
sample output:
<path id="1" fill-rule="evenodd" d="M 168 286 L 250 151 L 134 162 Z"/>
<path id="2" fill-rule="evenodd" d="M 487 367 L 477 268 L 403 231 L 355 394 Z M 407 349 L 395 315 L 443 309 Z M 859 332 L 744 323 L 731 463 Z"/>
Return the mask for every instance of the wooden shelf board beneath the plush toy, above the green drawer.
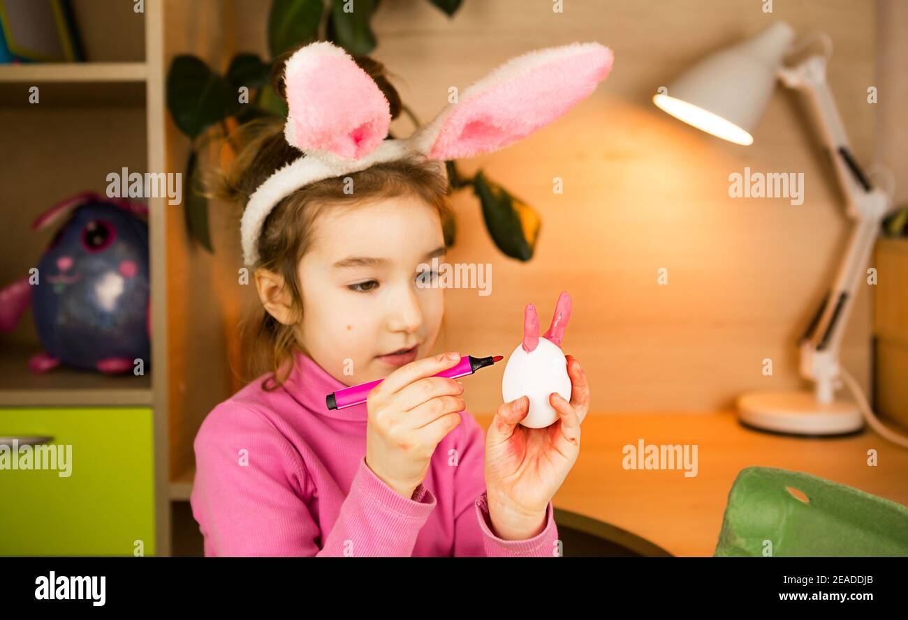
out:
<path id="1" fill-rule="evenodd" d="M 0 349 L 0 406 L 129 406 L 152 404 L 149 374 L 107 376 L 57 367 L 32 373 L 28 359 L 40 353 L 36 344 L 4 343 Z"/>

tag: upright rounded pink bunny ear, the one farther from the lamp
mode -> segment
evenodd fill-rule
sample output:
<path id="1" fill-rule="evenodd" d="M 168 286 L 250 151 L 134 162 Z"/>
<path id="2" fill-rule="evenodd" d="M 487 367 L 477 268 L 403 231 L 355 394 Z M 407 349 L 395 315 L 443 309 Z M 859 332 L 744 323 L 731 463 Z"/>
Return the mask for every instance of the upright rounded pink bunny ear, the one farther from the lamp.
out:
<path id="1" fill-rule="evenodd" d="M 388 100 L 350 54 L 328 42 L 306 45 L 284 68 L 284 137 L 299 150 L 359 160 L 388 135 Z"/>

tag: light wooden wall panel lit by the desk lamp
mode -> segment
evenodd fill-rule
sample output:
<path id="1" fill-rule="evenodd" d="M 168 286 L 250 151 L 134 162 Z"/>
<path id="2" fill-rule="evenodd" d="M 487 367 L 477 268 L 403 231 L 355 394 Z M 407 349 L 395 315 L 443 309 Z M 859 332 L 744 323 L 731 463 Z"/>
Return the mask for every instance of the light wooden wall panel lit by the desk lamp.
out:
<path id="1" fill-rule="evenodd" d="M 233 4 L 237 45 L 265 53 L 267 8 Z M 616 53 L 597 92 L 568 116 L 489 156 L 480 167 L 541 212 L 537 255 L 528 263 L 492 246 L 469 193 L 453 199 L 460 236 L 451 262 L 491 263 L 493 292 L 451 290 L 438 350 L 509 354 L 519 342 L 523 306 L 548 323 L 562 289 L 576 314 L 565 351 L 584 364 L 596 412 L 699 412 L 727 408 L 735 395 L 802 384 L 795 338 L 834 276 L 847 220 L 834 177 L 804 107 L 779 89 L 755 144 L 739 147 L 686 127 L 650 101 L 691 63 L 773 19 L 799 34 L 830 34 L 829 81 L 859 160 L 873 156 L 873 3 L 844 0 L 760 3 L 734 0 L 466 2 L 449 20 L 429 3 L 385 3 L 372 54 L 398 75 L 405 102 L 428 121 L 451 85 L 466 87 L 498 63 L 530 49 L 599 41 Z M 407 121 L 392 126 L 410 131 Z M 729 199 L 728 175 L 804 172 L 804 204 Z M 565 180 L 554 195 L 553 177 Z M 239 264 L 239 255 L 234 257 Z M 656 286 L 666 267 L 669 285 Z M 870 295 L 862 289 L 845 334 L 843 363 L 868 387 Z M 764 377 L 761 361 L 775 361 Z M 493 411 L 500 370 L 469 380 L 469 408 Z"/>

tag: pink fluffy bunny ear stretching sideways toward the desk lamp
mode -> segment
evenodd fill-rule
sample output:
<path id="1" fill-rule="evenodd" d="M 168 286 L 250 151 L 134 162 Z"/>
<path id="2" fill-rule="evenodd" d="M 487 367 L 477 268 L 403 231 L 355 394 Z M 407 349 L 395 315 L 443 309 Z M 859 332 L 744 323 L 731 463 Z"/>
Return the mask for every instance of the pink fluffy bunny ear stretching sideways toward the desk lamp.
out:
<path id="1" fill-rule="evenodd" d="M 611 71 L 613 57 L 604 45 L 575 43 L 512 58 L 419 130 L 419 150 L 432 160 L 453 160 L 525 138 L 586 99 Z"/>

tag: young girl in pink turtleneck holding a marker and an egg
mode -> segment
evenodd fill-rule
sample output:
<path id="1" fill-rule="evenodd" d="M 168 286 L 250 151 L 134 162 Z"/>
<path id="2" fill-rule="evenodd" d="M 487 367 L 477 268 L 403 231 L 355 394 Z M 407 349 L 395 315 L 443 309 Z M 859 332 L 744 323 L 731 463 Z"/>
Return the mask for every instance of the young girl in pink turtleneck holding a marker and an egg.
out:
<path id="1" fill-rule="evenodd" d="M 309 47 L 316 45 L 329 44 Z M 379 63 L 360 57 L 351 70 L 336 63 L 352 59 L 335 49 L 326 50 L 323 63 L 291 57 L 279 82 L 291 118 L 286 126 L 251 126 L 265 129 L 247 141 L 225 179 L 222 193 L 248 199 L 244 250 L 262 301 L 259 334 L 271 370 L 217 405 L 195 438 L 191 503 L 205 555 L 558 556 L 551 498 L 577 460 L 589 405 L 580 364 L 567 356 L 571 401 L 550 396 L 555 424 L 519 426 L 528 413 L 521 397 L 502 404 L 483 433 L 466 411 L 462 383 L 433 376 L 454 366 L 460 353 L 427 357 L 439 334 L 443 291 L 419 286 L 419 265 L 445 257 L 443 160 L 451 151 L 427 157 L 410 150 L 341 175 L 323 173 L 301 187 L 293 187 L 301 177 L 280 173 L 312 165 L 311 150 L 301 158 L 294 148 L 307 140 L 301 114 L 312 121 L 317 98 L 332 84 L 359 97 L 360 78 L 368 78 L 389 117 L 400 113 Z M 574 52 L 572 63 L 584 60 Z M 552 76 L 565 72 L 558 65 L 564 60 L 563 53 L 538 57 L 534 70 L 545 61 L 548 78 L 558 79 Z M 300 86 L 311 89 L 307 110 L 291 92 L 300 67 L 309 72 L 301 73 L 308 85 Z M 602 77 L 597 73 L 595 82 Z M 487 91 L 494 83 L 485 84 Z M 461 102 L 475 101 L 469 94 Z M 322 101 L 325 114 L 340 113 L 344 101 Z M 356 106 L 368 102 L 357 99 Z M 357 149 L 369 138 L 365 124 L 353 124 L 355 140 L 337 148 L 354 149 L 348 155 L 355 160 L 368 151 Z M 378 143 L 387 126 L 377 126 Z M 520 137 L 512 131 L 517 138 L 510 141 Z M 277 178 L 291 185 L 263 208 L 267 201 L 256 190 Z M 327 408 L 327 394 L 381 378 L 367 402 Z"/>

